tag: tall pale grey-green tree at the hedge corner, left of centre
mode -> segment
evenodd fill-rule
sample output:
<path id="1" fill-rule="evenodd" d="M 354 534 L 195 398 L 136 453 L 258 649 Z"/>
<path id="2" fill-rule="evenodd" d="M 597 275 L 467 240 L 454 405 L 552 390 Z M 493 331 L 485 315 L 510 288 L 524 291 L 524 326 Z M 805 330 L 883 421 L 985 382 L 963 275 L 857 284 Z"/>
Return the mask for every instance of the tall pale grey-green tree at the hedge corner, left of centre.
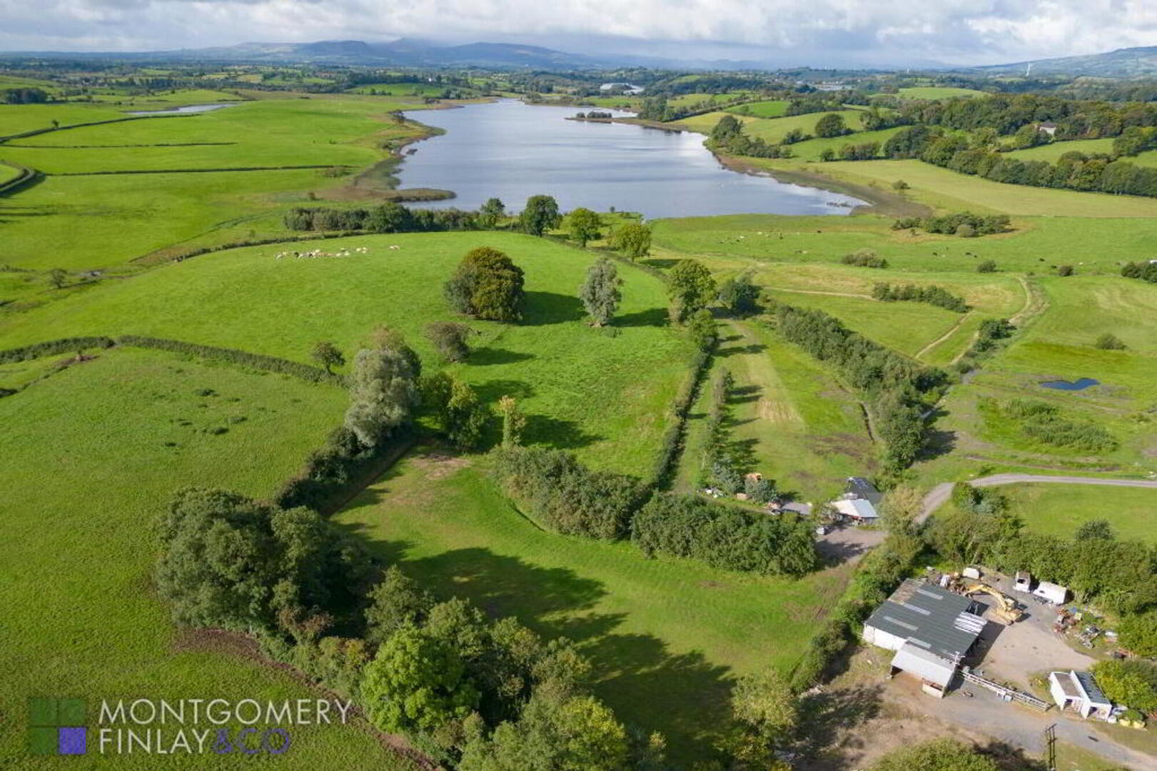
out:
<path id="1" fill-rule="evenodd" d="M 421 362 L 399 335 L 378 330 L 371 347 L 354 357 L 345 425 L 358 441 L 374 447 L 410 421 L 418 405 Z"/>

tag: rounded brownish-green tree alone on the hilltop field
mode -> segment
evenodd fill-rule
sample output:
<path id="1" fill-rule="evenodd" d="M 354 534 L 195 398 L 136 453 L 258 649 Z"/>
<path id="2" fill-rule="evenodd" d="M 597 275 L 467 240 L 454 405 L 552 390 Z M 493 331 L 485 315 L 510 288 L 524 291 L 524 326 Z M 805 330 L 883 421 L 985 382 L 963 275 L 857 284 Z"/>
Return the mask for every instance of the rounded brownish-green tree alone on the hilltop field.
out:
<path id="1" fill-rule="evenodd" d="M 523 272 L 498 249 L 471 249 L 458 270 L 445 282 L 450 307 L 488 321 L 511 322 L 522 318 Z"/>

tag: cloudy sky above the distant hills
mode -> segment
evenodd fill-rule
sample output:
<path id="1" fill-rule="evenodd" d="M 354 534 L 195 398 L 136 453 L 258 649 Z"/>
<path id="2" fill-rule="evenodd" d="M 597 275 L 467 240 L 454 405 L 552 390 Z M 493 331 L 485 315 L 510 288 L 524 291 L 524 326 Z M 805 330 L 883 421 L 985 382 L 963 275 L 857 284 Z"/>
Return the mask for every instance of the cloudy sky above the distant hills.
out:
<path id="1" fill-rule="evenodd" d="M 0 0 L 0 50 L 398 36 L 779 64 L 994 64 L 1157 45 L 1154 0 Z"/>

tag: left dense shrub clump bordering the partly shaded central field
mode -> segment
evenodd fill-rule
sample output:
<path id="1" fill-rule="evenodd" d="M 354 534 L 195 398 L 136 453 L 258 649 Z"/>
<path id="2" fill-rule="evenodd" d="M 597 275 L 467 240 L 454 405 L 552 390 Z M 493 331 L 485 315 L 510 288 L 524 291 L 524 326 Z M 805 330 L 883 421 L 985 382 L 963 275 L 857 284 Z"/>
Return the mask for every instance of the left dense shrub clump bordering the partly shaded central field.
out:
<path id="1" fill-rule="evenodd" d="M 537 521 L 566 535 L 626 536 L 644 494 L 635 477 L 591 471 L 570 453 L 539 447 L 494 450 L 494 473 Z"/>

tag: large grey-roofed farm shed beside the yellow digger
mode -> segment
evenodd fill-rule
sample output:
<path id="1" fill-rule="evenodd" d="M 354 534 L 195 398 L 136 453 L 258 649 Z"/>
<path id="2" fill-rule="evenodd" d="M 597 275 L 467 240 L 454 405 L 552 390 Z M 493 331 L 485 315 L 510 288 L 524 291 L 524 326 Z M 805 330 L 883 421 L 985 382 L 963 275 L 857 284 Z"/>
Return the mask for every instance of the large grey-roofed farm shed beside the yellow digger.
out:
<path id="1" fill-rule="evenodd" d="M 943 697 L 985 629 L 974 609 L 968 597 L 906 579 L 864 622 L 863 639 L 897 652 L 892 675 L 914 675 L 926 693 Z"/>

